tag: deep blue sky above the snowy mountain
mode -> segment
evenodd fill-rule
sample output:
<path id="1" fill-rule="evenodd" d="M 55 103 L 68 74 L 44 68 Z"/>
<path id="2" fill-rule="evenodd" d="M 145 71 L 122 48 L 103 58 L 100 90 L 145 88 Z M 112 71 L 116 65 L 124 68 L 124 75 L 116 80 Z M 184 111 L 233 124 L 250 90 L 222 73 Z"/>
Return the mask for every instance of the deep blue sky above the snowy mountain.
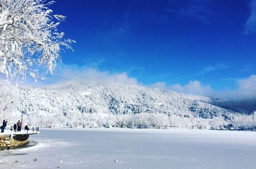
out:
<path id="1" fill-rule="evenodd" d="M 75 52 L 62 52 L 62 69 L 39 84 L 92 70 L 213 96 L 250 93 L 256 83 L 256 2 L 57 0 L 51 8 L 67 17 L 58 29 L 76 40 Z"/>

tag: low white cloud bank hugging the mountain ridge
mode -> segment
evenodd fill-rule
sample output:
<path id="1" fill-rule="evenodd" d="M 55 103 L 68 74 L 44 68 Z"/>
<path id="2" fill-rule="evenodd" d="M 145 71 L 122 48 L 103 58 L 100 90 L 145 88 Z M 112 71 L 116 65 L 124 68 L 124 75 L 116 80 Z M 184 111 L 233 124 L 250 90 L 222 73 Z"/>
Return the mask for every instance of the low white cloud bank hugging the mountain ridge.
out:
<path id="1" fill-rule="evenodd" d="M 88 68 L 78 65 L 62 65 L 62 69 L 55 71 L 53 76 L 47 76 L 45 80 L 38 80 L 37 83 L 27 81 L 25 84 L 33 86 L 43 86 L 47 84 L 60 83 L 62 81 L 87 81 L 88 83 L 101 84 L 131 84 L 143 85 L 136 78 L 130 77 L 126 72 L 110 73 L 109 71 L 99 71 L 95 68 Z M 202 84 L 198 80 L 191 80 L 188 84 L 166 84 L 164 81 L 151 84 L 151 88 L 169 89 L 179 93 L 215 96 L 228 99 L 250 99 L 256 98 L 256 75 L 249 78 L 236 79 L 237 89 L 235 90 L 214 90 L 210 85 Z"/>

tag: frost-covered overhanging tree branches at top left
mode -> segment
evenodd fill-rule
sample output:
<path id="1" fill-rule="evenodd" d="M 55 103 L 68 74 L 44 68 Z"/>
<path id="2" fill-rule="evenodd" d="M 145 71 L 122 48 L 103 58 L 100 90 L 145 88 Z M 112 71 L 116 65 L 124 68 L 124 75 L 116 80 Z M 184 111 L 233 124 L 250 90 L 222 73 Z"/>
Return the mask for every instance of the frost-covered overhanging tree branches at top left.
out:
<path id="1" fill-rule="evenodd" d="M 75 41 L 63 39 L 64 33 L 57 32 L 65 16 L 53 14 L 48 8 L 52 3 L 0 1 L 0 75 L 25 78 L 28 73 L 38 78 L 38 65 L 45 65 L 52 73 L 62 47 L 71 49 L 70 44 Z"/>

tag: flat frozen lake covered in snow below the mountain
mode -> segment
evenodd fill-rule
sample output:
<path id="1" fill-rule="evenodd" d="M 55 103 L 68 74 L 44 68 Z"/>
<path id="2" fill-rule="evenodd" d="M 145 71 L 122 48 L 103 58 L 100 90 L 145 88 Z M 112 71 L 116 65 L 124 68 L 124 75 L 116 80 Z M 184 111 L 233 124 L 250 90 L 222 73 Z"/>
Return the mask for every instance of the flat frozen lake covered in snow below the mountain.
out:
<path id="1" fill-rule="evenodd" d="M 0 152 L 0 168 L 255 168 L 256 132 L 41 129 Z"/>

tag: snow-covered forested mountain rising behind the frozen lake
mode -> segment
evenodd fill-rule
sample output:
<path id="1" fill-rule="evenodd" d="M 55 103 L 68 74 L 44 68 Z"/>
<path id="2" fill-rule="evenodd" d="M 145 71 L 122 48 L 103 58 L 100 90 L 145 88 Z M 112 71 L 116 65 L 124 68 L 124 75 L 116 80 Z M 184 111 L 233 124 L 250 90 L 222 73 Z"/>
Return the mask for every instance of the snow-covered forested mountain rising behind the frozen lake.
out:
<path id="1" fill-rule="evenodd" d="M 237 126 L 240 119 L 255 121 L 248 114 L 256 110 L 256 101 L 228 101 L 137 85 L 65 82 L 32 88 L 1 81 L 0 90 L 3 118 L 14 121 L 22 112 L 31 125 L 221 127 Z"/>

